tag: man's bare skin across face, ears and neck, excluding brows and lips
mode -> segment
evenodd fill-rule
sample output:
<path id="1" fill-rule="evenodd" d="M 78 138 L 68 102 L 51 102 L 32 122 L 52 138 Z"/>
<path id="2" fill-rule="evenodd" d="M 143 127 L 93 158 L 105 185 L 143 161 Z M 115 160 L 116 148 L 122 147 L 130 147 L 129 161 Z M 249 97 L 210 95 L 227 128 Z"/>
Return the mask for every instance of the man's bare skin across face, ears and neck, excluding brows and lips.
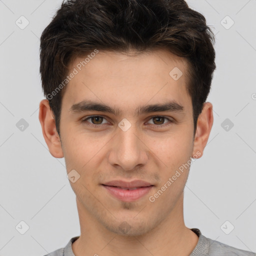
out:
<path id="1" fill-rule="evenodd" d="M 83 59 L 70 63 L 70 72 Z M 178 80 L 169 75 L 174 67 L 183 72 Z M 81 232 L 72 244 L 76 256 L 184 256 L 196 246 L 198 237 L 185 226 L 183 218 L 183 189 L 189 167 L 154 202 L 149 201 L 149 196 L 189 157 L 202 156 L 212 127 L 212 104 L 206 102 L 193 137 L 186 73 L 186 60 L 165 50 L 137 56 L 99 51 L 66 87 L 61 105 L 61 137 L 48 100 L 40 101 L 39 120 L 51 155 L 64 157 L 67 173 L 75 169 L 80 175 L 74 183 L 70 181 L 76 194 Z M 85 99 L 119 108 L 121 112 L 114 115 L 69 111 L 72 104 Z M 183 105 L 183 112 L 134 114 L 140 105 L 169 100 Z M 87 123 L 98 127 L 81 121 L 90 115 L 104 117 L 87 119 Z M 154 116 L 174 121 L 157 121 Z M 118 127 L 123 118 L 131 124 L 125 132 Z M 154 186 L 142 198 L 124 202 L 101 185 L 115 179 L 142 179 Z M 129 225 L 126 233 L 119 229 L 123 222 Z"/>

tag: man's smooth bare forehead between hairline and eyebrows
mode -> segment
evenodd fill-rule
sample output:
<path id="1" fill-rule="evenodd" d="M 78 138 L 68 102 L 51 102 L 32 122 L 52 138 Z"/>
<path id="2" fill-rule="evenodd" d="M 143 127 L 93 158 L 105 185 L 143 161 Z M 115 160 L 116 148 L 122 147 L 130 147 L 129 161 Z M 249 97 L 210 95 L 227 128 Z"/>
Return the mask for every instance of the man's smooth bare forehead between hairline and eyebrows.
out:
<path id="1" fill-rule="evenodd" d="M 99 50 L 93 56 L 75 58 L 68 73 L 75 69 L 76 74 L 67 84 L 63 101 L 70 107 L 89 99 L 121 109 L 170 100 L 184 106 L 190 103 L 184 58 L 166 50 L 133 53 Z"/>

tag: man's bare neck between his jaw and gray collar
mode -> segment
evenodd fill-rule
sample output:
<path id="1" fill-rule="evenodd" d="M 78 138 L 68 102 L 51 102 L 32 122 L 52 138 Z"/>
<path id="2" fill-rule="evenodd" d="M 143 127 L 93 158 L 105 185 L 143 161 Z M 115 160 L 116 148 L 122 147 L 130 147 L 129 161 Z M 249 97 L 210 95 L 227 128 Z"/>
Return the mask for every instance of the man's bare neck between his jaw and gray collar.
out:
<path id="1" fill-rule="evenodd" d="M 72 243 L 75 256 L 143 256 L 189 255 L 198 242 L 198 236 L 184 225 L 183 192 L 167 218 L 142 235 L 120 235 L 102 226 L 77 201 L 81 234 Z"/>

